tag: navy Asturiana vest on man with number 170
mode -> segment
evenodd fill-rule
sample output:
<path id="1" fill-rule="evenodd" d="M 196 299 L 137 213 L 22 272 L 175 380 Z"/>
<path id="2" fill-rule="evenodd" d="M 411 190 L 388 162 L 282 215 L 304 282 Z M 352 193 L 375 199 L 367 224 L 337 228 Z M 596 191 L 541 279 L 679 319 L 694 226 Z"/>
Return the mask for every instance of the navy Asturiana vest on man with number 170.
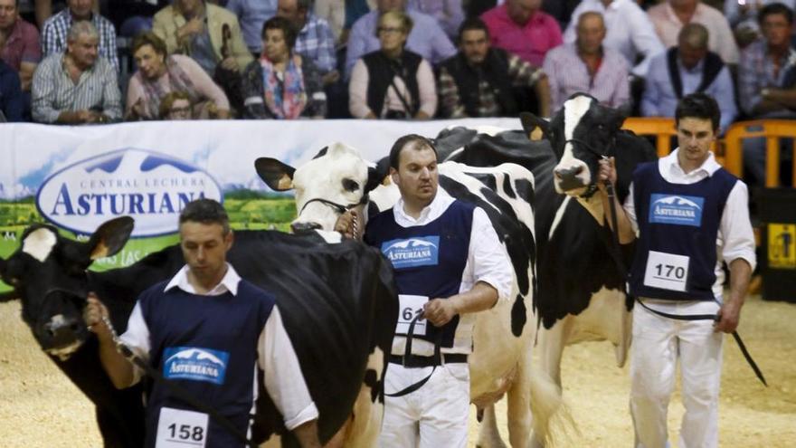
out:
<path id="1" fill-rule="evenodd" d="M 664 300 L 715 300 L 716 236 L 727 196 L 737 180 L 719 168 L 694 184 L 672 184 L 660 175 L 657 161 L 636 168 L 633 198 L 640 236 L 630 270 L 631 294 Z M 688 257 L 687 269 L 681 263 L 666 262 L 666 258 L 648 266 L 650 251 L 667 254 L 664 257 Z M 645 284 L 650 278 L 658 286 Z M 676 291 L 683 285 L 685 291 Z"/>

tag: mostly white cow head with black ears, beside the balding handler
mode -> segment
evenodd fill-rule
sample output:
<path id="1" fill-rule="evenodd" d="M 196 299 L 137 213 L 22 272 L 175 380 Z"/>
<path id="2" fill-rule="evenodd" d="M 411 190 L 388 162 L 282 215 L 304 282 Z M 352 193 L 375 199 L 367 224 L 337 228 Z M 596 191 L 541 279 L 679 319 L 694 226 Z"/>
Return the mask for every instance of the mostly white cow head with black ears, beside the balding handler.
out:
<path id="1" fill-rule="evenodd" d="M 368 193 L 384 180 L 387 171 L 385 162 L 369 163 L 343 143 L 321 149 L 299 168 L 270 157 L 258 158 L 254 167 L 272 189 L 295 190 L 299 213 L 290 224 L 295 233 L 333 230 L 337 217 L 350 209 L 366 217 Z"/>

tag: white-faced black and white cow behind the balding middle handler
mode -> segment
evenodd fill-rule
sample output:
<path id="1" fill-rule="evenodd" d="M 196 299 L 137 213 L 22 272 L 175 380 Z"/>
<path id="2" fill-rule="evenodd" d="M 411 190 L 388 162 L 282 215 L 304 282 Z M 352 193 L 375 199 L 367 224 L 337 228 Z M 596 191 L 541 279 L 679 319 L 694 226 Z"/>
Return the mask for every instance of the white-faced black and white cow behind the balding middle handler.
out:
<path id="1" fill-rule="evenodd" d="M 367 217 L 368 206 L 386 210 L 399 197 L 389 181 L 386 161 L 369 163 L 342 143 L 322 149 L 299 168 L 273 158 L 261 157 L 256 168 L 273 189 L 294 188 L 298 218 L 294 230 L 332 230 L 346 208 Z M 479 409 L 491 408 L 504 394 L 508 399 L 509 437 L 513 446 L 530 442 L 534 409 L 536 434 L 545 438 L 547 418 L 557 409 L 559 392 L 549 378 L 531 375 L 535 319 L 532 293 L 535 281 L 533 176 L 513 164 L 498 167 L 466 167 L 449 162 L 439 165 L 440 193 L 452 195 L 483 208 L 505 245 L 515 270 L 512 300 L 478 314 L 469 357 L 470 397 Z M 376 187 L 378 186 L 378 187 Z M 372 213 L 373 210 L 370 212 Z M 364 225 L 364 223 L 361 223 Z M 546 381 L 545 381 L 546 379 Z M 545 405 L 544 407 L 542 405 Z M 486 414 L 488 428 L 479 438 L 481 446 L 499 442 L 494 413 Z"/>

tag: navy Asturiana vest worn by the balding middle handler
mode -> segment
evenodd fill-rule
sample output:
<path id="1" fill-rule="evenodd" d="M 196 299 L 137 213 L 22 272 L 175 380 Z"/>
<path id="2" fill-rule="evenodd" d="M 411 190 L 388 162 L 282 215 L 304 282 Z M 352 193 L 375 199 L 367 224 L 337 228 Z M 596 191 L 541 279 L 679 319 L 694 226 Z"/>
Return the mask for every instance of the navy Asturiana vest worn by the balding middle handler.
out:
<path id="1" fill-rule="evenodd" d="M 434 221 L 402 227 L 395 223 L 393 209 L 377 214 L 367 224 L 365 241 L 378 247 L 393 263 L 398 292 L 445 299 L 458 294 L 467 265 L 474 205 L 453 201 Z M 426 334 L 415 336 L 453 347 L 459 316 L 441 328 L 429 324 Z"/>

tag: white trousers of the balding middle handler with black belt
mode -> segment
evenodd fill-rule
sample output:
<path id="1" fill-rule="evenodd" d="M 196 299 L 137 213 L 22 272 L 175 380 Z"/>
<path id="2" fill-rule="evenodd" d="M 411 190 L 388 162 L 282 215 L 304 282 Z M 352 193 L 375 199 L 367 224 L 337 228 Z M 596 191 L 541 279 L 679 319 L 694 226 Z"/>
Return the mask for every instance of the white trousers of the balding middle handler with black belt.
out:
<path id="1" fill-rule="evenodd" d="M 384 392 L 403 390 L 429 375 L 432 367 L 406 368 L 390 363 Z M 384 397 L 383 448 L 464 448 L 469 419 L 469 367 L 437 367 L 429 381 L 411 394 Z"/>

